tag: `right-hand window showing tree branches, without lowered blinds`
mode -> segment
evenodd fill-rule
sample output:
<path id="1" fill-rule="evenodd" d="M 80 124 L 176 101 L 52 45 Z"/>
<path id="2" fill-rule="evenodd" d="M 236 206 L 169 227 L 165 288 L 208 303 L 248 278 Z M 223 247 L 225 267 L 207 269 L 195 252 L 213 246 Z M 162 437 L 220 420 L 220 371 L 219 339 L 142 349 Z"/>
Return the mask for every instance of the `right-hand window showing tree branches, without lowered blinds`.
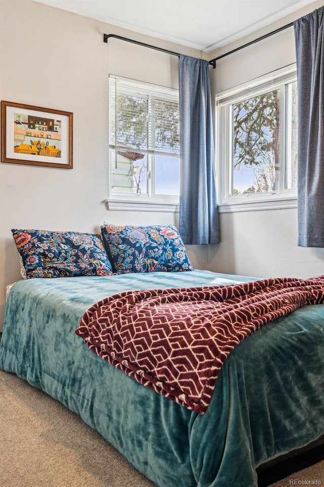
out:
<path id="1" fill-rule="evenodd" d="M 295 206 L 296 67 L 220 93 L 216 114 L 221 211 Z"/>

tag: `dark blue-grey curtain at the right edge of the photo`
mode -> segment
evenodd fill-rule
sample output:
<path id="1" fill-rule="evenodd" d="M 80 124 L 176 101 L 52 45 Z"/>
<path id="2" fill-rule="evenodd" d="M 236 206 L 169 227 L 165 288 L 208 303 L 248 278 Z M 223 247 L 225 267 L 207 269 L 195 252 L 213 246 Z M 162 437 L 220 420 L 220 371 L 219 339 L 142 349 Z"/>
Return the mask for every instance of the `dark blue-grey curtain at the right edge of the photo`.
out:
<path id="1" fill-rule="evenodd" d="M 294 22 L 298 84 L 298 245 L 324 247 L 324 7 Z"/>

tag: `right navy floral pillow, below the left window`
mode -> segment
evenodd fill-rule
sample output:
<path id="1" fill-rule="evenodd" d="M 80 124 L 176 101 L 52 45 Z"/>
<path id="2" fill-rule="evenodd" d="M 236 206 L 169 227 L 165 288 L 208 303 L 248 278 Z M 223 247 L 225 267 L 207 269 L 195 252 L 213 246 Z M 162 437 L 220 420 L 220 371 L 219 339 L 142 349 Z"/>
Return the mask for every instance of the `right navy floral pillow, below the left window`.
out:
<path id="1" fill-rule="evenodd" d="M 193 270 L 173 225 L 102 225 L 103 242 L 117 274 Z"/>

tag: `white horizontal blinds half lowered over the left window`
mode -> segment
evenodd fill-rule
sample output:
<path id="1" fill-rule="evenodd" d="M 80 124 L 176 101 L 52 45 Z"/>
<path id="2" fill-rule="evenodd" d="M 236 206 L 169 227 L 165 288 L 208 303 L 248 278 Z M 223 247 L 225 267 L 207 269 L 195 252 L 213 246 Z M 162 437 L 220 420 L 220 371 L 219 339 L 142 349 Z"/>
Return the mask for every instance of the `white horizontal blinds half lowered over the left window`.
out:
<path id="1" fill-rule="evenodd" d="M 116 151 L 179 155 L 179 92 L 109 76 L 109 145 Z"/>

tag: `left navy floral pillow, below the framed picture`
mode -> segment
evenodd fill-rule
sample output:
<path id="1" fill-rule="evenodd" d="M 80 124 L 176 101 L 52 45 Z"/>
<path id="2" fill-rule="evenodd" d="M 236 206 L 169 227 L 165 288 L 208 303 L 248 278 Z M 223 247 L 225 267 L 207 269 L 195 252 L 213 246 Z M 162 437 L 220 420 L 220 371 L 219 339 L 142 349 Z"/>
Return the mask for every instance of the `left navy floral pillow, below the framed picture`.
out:
<path id="1" fill-rule="evenodd" d="M 95 233 L 18 229 L 12 233 L 27 279 L 113 273 L 100 235 Z"/>

